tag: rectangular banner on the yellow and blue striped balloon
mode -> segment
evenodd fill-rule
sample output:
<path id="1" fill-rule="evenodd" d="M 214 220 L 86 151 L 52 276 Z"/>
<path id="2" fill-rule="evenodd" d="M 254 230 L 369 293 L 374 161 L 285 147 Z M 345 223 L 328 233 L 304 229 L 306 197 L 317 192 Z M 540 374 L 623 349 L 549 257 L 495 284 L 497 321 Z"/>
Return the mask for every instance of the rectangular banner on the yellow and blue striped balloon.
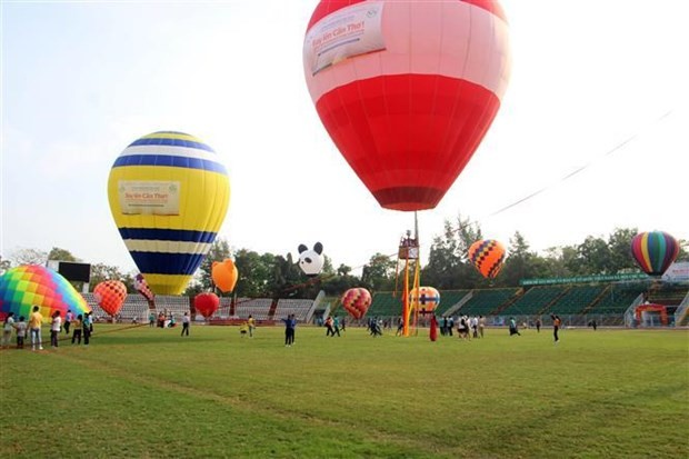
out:
<path id="1" fill-rule="evenodd" d="M 119 180 L 120 209 L 128 216 L 179 216 L 179 181 Z"/>

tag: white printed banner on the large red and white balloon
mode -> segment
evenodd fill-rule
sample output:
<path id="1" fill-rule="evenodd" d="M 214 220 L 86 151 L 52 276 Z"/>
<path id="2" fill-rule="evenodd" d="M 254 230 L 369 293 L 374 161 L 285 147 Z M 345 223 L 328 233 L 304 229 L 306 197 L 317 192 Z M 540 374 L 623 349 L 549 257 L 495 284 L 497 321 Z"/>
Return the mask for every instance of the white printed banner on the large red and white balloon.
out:
<path id="1" fill-rule="evenodd" d="M 347 58 L 386 49 L 380 29 L 382 2 L 342 8 L 316 23 L 303 42 L 312 74 Z"/>

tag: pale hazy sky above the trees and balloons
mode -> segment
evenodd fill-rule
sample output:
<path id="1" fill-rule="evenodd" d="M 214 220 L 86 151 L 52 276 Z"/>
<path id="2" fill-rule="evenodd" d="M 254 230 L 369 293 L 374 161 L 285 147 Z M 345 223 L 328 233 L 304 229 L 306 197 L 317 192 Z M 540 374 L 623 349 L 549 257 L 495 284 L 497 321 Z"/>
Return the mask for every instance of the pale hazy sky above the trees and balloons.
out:
<path id="1" fill-rule="evenodd" d="M 136 270 L 107 182 L 119 153 L 159 130 L 220 154 L 231 199 L 219 237 L 233 249 L 296 258 L 320 241 L 355 269 L 395 253 L 413 213 L 380 208 L 306 87 L 317 3 L 3 0 L 2 258 L 59 247 Z M 516 231 L 538 252 L 616 228 L 689 239 L 689 2 L 501 4 L 510 83 L 467 168 L 419 212 L 422 256 L 458 216 L 508 252 Z"/>

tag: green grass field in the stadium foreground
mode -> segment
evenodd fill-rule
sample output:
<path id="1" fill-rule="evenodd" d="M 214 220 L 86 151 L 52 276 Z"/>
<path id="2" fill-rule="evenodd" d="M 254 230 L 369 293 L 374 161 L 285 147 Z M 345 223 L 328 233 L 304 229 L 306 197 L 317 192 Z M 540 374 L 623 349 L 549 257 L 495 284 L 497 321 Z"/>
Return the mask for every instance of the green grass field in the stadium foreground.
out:
<path id="1" fill-rule="evenodd" d="M 88 348 L 0 351 L 0 457 L 689 456 L 686 330 L 179 332 L 97 325 Z"/>

